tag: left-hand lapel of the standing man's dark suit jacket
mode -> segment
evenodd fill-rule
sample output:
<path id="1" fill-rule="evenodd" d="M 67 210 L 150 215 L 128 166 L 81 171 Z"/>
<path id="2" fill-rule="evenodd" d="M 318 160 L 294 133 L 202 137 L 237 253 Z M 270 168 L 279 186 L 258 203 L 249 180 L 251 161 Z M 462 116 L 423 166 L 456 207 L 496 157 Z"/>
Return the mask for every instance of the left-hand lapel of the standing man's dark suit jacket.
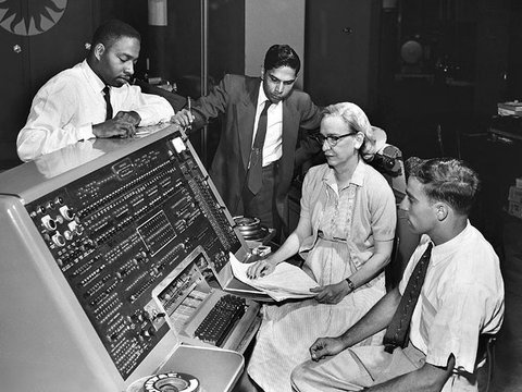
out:
<path id="1" fill-rule="evenodd" d="M 257 79 L 254 83 L 247 85 L 248 91 L 245 99 L 237 105 L 237 131 L 245 169 L 248 167 L 248 158 L 252 148 L 253 123 L 256 121 L 260 82 L 261 79 Z"/>

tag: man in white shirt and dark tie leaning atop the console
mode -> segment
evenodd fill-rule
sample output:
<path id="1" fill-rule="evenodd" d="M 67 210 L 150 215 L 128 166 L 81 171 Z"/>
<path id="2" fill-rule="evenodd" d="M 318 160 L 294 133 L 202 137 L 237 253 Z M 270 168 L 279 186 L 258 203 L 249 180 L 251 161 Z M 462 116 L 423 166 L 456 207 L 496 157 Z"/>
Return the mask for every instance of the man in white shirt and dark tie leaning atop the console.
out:
<path id="1" fill-rule="evenodd" d="M 139 33 L 121 21 L 100 25 L 87 59 L 36 94 L 16 140 L 20 159 L 33 160 L 94 137 L 132 137 L 137 125 L 170 121 L 174 110 L 164 98 L 129 85 L 140 40 Z"/>

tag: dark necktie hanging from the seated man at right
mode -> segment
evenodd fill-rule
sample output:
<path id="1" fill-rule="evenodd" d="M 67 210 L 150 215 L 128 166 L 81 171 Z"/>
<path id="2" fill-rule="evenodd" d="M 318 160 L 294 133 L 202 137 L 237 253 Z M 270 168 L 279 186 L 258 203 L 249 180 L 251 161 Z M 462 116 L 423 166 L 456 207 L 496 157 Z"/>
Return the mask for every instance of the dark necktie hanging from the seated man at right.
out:
<path id="1" fill-rule="evenodd" d="M 393 353 L 396 347 L 405 347 L 407 334 L 410 330 L 411 316 L 415 308 L 417 301 L 421 294 L 422 284 L 426 277 L 427 266 L 430 265 L 430 257 L 432 256 L 433 244 L 427 245 L 426 250 L 417 264 L 413 272 L 406 285 L 405 293 L 400 299 L 400 304 L 395 311 L 394 318 L 384 335 L 384 350 L 387 353 Z"/>

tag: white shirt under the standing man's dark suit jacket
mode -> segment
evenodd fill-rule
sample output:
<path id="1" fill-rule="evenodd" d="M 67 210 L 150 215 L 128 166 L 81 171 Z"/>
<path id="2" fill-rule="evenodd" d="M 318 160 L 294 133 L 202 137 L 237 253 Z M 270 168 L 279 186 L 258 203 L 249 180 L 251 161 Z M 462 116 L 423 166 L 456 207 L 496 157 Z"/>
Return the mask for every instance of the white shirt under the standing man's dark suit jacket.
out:
<path id="1" fill-rule="evenodd" d="M 258 130 L 259 118 L 263 111 L 264 102 L 269 98 L 263 90 L 263 85 L 259 86 L 258 108 L 256 109 L 256 121 L 253 123 L 252 145 L 256 140 L 256 133 Z M 263 145 L 263 167 L 275 162 L 283 155 L 282 147 L 283 136 L 283 101 L 277 105 L 272 103 L 266 113 L 266 136 Z"/>

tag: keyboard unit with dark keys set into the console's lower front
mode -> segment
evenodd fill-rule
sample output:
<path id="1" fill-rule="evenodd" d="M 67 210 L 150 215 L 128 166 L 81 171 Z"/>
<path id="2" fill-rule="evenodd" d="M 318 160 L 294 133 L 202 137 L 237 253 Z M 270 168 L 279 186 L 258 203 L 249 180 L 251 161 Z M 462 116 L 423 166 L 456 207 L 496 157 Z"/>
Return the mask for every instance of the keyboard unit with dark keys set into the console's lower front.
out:
<path id="1" fill-rule="evenodd" d="M 183 342 L 243 353 L 259 327 L 259 304 L 210 286 L 198 268 L 206 259 L 198 246 L 154 287 L 158 311 Z"/>

